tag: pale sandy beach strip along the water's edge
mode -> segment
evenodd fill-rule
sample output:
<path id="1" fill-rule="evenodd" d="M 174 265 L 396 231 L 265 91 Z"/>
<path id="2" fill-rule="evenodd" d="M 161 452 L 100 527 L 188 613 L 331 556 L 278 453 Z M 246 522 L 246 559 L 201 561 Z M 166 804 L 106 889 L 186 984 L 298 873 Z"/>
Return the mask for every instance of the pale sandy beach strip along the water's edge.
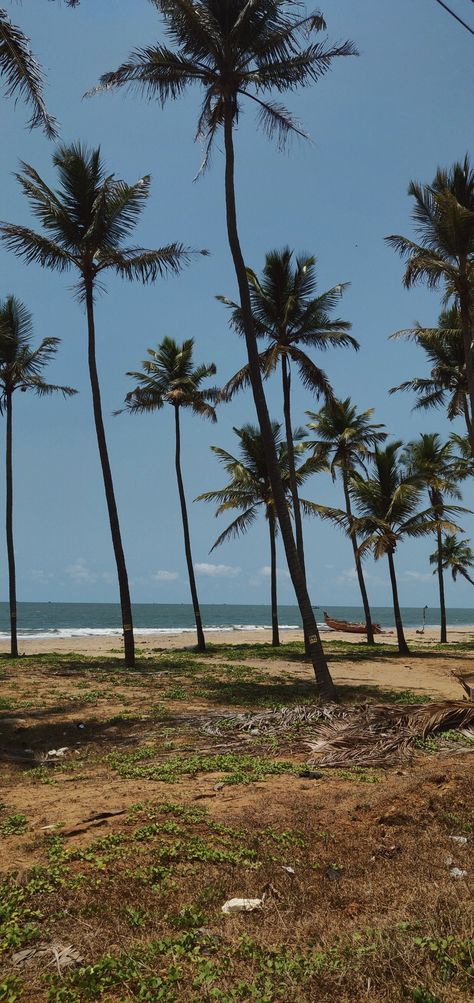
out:
<path id="1" fill-rule="evenodd" d="M 417 629 L 408 627 L 405 629 L 407 641 L 416 642 L 417 645 L 426 645 L 427 649 L 432 644 L 439 644 L 439 627 L 426 627 L 424 634 L 418 634 Z M 270 644 L 271 629 L 266 627 L 252 628 L 249 630 L 232 630 L 231 628 L 211 628 L 204 631 L 207 635 L 208 643 L 228 644 L 238 646 L 240 644 Z M 474 635 L 474 624 L 456 627 L 448 627 L 448 645 L 468 639 Z M 365 635 L 347 634 L 342 631 L 321 631 L 323 645 L 328 641 L 346 641 L 352 644 L 365 643 Z M 187 629 L 174 630 L 169 632 L 153 633 L 151 631 L 142 632 L 135 629 L 135 644 L 142 649 L 143 654 L 151 654 L 153 650 L 193 648 L 195 641 L 194 631 Z M 283 644 L 294 641 L 303 641 L 303 631 L 300 628 L 283 629 L 281 633 Z M 396 644 L 396 634 L 382 634 L 377 636 L 378 644 Z M 7 655 L 9 652 L 9 638 L 2 638 L 0 641 L 0 655 Z M 81 654 L 91 657 L 122 653 L 121 632 L 76 635 L 75 637 L 28 637 L 18 639 L 20 654 Z M 275 649 L 278 657 L 278 648 Z"/>

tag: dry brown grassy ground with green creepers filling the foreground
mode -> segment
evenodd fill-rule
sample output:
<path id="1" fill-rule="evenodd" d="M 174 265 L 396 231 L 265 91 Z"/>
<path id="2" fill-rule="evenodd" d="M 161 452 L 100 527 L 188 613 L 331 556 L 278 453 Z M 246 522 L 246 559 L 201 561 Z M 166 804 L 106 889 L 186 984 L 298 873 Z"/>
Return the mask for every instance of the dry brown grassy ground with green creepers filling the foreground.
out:
<path id="1" fill-rule="evenodd" d="M 2 744 L 8 736 L 10 751 L 33 749 L 32 762 L 46 747 L 69 750 L 33 772 L 3 766 L 0 1000 L 471 998 L 474 817 L 462 740 L 397 769 L 312 779 L 299 775 L 306 755 L 288 736 L 282 772 L 272 736 L 255 736 L 246 758 L 202 734 L 213 705 L 205 693 L 241 685 L 242 665 L 28 668 L 8 669 L 3 692 L 15 706 L 2 712 Z M 262 671 L 248 667 L 248 684 Z M 91 819 L 104 809 L 122 813 Z M 448 858 L 467 879 L 451 876 Z M 234 896 L 265 896 L 264 909 L 223 917 Z M 45 942 L 72 944 L 84 967 L 59 974 L 34 958 L 15 967 L 23 945 Z"/>

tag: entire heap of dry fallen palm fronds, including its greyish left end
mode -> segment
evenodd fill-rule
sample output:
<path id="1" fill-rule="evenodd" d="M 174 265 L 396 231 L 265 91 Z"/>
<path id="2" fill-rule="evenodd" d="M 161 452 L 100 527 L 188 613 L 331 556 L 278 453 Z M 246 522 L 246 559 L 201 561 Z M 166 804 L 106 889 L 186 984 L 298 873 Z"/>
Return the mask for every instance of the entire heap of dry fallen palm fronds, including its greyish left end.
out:
<path id="1" fill-rule="evenodd" d="M 413 754 L 416 739 L 456 730 L 474 738 L 474 702 L 302 705 L 262 713 L 229 714 L 202 725 L 206 734 L 248 739 L 305 737 L 318 766 L 390 766 Z"/>

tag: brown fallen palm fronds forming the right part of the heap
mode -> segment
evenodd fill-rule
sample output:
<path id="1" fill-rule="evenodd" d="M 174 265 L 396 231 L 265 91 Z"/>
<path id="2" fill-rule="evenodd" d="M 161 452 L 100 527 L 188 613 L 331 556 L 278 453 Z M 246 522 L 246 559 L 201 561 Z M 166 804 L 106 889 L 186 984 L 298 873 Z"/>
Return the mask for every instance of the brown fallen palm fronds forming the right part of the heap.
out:
<path id="1" fill-rule="evenodd" d="M 474 738 L 474 703 L 368 704 L 349 718 L 321 722 L 317 741 L 308 742 L 309 762 L 333 767 L 390 766 L 413 753 L 416 739 L 444 731 Z"/>

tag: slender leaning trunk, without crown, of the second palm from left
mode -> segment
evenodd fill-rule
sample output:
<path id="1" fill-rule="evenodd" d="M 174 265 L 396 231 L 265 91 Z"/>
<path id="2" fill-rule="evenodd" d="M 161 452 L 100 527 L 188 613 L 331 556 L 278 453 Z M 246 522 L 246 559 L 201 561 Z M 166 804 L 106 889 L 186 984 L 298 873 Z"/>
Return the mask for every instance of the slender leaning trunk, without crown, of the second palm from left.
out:
<path id="1" fill-rule="evenodd" d="M 87 309 L 89 376 L 92 390 L 95 432 L 97 435 L 97 445 L 99 449 L 100 464 L 102 467 L 105 498 L 107 501 L 108 519 L 110 523 L 110 533 L 112 535 L 113 553 L 115 555 L 115 564 L 117 567 L 125 665 L 127 668 L 133 668 L 135 665 L 135 644 L 133 638 L 133 622 L 131 617 L 130 591 L 128 588 L 128 575 L 126 571 L 125 557 L 123 554 L 115 492 L 113 489 L 112 471 L 110 469 L 110 461 L 108 458 L 107 441 L 105 438 L 105 429 L 102 417 L 102 404 L 100 400 L 99 379 L 97 375 L 97 363 L 95 359 L 95 324 L 92 280 L 85 277 L 84 284 L 85 303 Z"/>

